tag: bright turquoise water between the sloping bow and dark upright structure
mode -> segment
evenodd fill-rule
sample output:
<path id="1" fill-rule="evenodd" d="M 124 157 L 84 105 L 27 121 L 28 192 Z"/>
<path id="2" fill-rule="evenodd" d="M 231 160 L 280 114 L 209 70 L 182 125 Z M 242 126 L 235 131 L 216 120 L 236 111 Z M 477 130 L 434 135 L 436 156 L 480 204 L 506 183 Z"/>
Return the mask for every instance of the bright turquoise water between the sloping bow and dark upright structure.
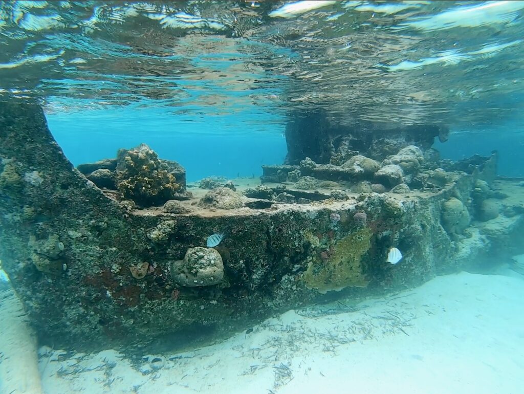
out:
<path id="1" fill-rule="evenodd" d="M 162 113 L 163 112 L 163 113 Z M 263 164 L 286 153 L 284 126 L 276 116 L 203 116 L 181 120 L 165 111 L 99 110 L 49 114 L 48 124 L 74 165 L 114 157 L 119 148 L 147 143 L 160 157 L 185 167 L 189 181 L 209 176 L 259 177 Z"/>

